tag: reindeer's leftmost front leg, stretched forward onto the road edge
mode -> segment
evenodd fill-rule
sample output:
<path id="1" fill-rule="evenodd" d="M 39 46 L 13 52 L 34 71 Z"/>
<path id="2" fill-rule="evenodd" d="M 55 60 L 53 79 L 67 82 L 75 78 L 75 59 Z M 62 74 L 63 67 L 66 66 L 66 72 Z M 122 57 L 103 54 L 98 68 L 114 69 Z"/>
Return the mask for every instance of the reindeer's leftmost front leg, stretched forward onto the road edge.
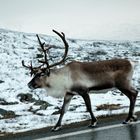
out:
<path id="1" fill-rule="evenodd" d="M 71 101 L 72 97 L 73 97 L 72 93 L 70 93 L 70 92 L 66 93 L 66 95 L 64 97 L 64 102 L 63 102 L 63 105 L 62 105 L 62 109 L 61 109 L 61 112 L 60 112 L 58 122 L 56 123 L 55 127 L 52 128 L 52 131 L 57 131 L 57 130 L 61 129 L 61 122 L 62 122 L 63 116 L 68 110 L 68 107 L 69 107 L 69 104 L 70 104 L 70 101 Z"/>

